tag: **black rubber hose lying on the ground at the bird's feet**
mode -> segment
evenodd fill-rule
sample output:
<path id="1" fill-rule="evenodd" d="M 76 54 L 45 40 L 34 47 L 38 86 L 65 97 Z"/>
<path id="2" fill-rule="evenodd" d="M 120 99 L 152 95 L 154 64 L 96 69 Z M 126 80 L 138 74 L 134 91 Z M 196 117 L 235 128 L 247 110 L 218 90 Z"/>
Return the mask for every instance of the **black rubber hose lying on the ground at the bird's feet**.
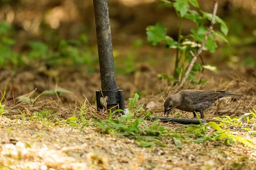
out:
<path id="1" fill-rule="evenodd" d="M 199 125 L 200 122 L 198 119 L 183 119 L 183 118 L 168 118 L 168 117 L 152 117 L 150 118 L 151 120 L 156 120 L 156 119 L 160 119 L 161 122 L 164 123 L 180 123 L 183 125 L 189 125 L 189 124 L 195 124 L 195 125 Z M 207 123 L 206 121 L 201 119 L 202 124 Z"/>

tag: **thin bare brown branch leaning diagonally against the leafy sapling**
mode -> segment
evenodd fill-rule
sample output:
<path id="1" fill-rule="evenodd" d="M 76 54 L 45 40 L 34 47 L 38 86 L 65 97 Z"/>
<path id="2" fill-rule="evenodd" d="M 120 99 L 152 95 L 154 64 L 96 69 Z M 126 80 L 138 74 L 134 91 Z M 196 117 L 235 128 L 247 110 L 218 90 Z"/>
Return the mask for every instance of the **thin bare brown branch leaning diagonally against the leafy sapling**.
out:
<path id="1" fill-rule="evenodd" d="M 192 51 L 190 51 L 191 55 L 193 56 L 193 59 L 192 59 L 191 63 L 189 64 L 188 70 L 186 71 L 186 73 L 185 73 L 185 75 L 184 75 L 184 77 L 183 77 L 183 79 L 182 79 L 182 81 L 180 83 L 180 88 L 183 86 L 183 84 L 185 83 L 186 79 L 188 78 L 188 74 L 190 73 L 192 67 L 194 66 L 194 63 L 196 62 L 197 57 L 202 53 L 203 48 L 205 46 L 205 43 L 206 43 L 210 33 L 212 32 L 213 25 L 214 25 L 214 20 L 215 20 L 215 17 L 216 17 L 217 8 L 218 8 L 218 0 L 215 0 L 214 9 L 213 9 L 213 12 L 212 12 L 211 25 L 210 25 L 209 29 L 206 32 L 204 41 L 202 42 L 202 45 L 201 45 L 200 49 L 198 49 L 198 53 L 196 55 L 194 55 L 194 53 Z"/>

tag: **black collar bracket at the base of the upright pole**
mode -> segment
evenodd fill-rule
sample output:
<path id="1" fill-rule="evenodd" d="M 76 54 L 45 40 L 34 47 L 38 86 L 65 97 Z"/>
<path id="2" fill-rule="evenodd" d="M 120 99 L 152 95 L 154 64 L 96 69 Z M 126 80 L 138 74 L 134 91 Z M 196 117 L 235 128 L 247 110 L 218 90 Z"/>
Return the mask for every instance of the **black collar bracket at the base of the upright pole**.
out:
<path id="1" fill-rule="evenodd" d="M 102 92 L 102 93 L 101 93 Z M 125 104 L 124 104 L 124 91 L 119 90 L 118 87 L 113 90 L 96 90 L 96 102 L 97 102 L 97 110 L 99 111 L 100 109 L 103 109 L 104 106 L 100 103 L 100 98 L 108 96 L 108 101 L 107 101 L 107 108 L 110 109 L 116 105 L 119 105 L 119 109 L 124 110 L 125 109 Z M 103 96 L 102 96 L 103 94 Z M 113 108 L 115 110 L 116 107 Z"/>

